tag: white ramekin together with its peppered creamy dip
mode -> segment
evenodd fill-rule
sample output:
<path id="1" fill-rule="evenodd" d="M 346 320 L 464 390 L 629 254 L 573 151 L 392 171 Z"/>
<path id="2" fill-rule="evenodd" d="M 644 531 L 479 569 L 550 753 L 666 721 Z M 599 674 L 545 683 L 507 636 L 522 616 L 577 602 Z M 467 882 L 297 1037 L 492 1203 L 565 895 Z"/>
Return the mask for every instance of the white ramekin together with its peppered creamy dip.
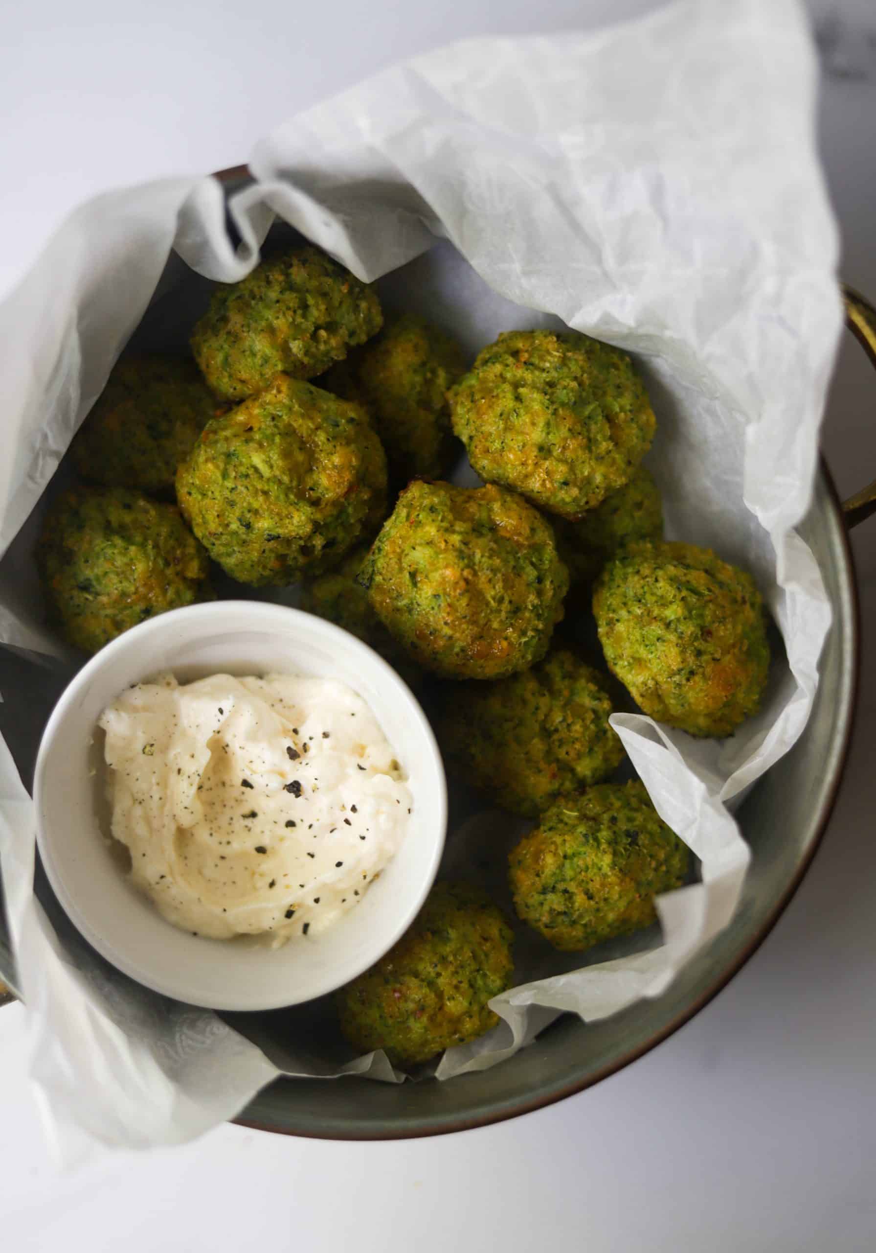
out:
<path id="1" fill-rule="evenodd" d="M 101 649 L 49 719 L 34 801 L 89 944 L 219 1010 L 313 1000 L 379 960 L 447 827 L 441 753 L 395 672 L 258 601 L 178 609 Z"/>

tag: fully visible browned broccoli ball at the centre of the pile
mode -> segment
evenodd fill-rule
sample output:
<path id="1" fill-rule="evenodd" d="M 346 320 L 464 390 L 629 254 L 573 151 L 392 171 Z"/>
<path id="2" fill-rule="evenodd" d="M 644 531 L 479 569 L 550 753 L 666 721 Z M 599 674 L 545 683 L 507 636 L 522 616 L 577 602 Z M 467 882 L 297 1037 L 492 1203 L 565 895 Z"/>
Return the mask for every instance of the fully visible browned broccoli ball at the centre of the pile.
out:
<path id="1" fill-rule="evenodd" d="M 453 679 L 498 679 L 544 657 L 568 590 L 551 525 L 502 487 L 415 480 L 362 571 L 410 657 Z"/>

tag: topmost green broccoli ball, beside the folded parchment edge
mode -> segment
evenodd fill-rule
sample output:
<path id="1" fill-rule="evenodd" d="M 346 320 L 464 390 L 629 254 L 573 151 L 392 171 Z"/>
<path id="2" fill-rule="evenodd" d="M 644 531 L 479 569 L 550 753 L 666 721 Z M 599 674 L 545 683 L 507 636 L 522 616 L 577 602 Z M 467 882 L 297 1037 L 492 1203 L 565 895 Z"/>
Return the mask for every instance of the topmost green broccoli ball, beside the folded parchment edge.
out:
<path id="1" fill-rule="evenodd" d="M 298 248 L 218 287 L 191 352 L 214 395 L 238 401 L 280 372 L 313 378 L 382 325 L 367 283 L 318 248 Z"/>

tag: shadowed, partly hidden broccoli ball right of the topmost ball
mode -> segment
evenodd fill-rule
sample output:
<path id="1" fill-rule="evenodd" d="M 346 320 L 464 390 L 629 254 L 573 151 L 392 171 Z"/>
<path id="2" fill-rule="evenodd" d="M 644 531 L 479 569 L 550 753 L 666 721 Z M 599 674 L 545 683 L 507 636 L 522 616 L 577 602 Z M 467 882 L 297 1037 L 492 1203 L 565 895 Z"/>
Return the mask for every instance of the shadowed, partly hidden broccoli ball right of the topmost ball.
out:
<path id="1" fill-rule="evenodd" d="M 466 371 L 456 340 L 419 318 L 399 317 L 357 355 L 354 370 L 390 477 L 408 482 L 444 474 L 454 456 L 447 390 Z"/>

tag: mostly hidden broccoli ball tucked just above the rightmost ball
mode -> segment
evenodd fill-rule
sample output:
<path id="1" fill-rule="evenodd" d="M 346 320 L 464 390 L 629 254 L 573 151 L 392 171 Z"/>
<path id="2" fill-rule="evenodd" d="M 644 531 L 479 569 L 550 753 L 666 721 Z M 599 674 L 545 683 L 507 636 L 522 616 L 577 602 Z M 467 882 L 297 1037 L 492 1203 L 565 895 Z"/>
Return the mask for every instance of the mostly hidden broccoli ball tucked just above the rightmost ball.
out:
<path id="1" fill-rule="evenodd" d="M 581 521 L 554 517 L 553 529 L 572 581 L 591 583 L 627 544 L 662 536 L 660 490 L 644 466 L 639 466 L 628 484 L 588 510 Z"/>

